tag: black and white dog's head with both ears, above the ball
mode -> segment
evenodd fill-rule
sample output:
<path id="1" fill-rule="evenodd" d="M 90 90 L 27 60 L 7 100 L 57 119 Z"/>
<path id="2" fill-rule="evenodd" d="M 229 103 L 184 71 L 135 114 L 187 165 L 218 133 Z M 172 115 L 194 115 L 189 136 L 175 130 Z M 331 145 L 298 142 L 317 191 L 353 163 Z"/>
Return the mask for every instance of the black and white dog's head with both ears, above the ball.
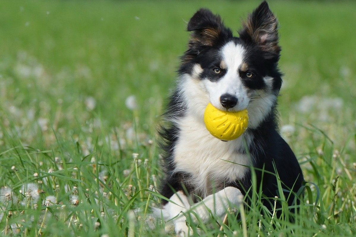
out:
<path id="1" fill-rule="evenodd" d="M 193 94 L 199 92 L 193 90 L 201 90 L 200 95 L 206 95 L 205 101 L 197 101 L 201 108 L 208 102 L 222 110 L 247 108 L 249 127 L 257 127 L 276 103 L 282 84 L 277 25 L 267 2 L 248 15 L 239 37 L 232 35 L 220 16 L 207 9 L 197 11 L 188 23 L 192 34 L 179 69 L 194 81 L 194 89 L 184 89 L 194 97 L 189 99 L 197 99 Z"/>

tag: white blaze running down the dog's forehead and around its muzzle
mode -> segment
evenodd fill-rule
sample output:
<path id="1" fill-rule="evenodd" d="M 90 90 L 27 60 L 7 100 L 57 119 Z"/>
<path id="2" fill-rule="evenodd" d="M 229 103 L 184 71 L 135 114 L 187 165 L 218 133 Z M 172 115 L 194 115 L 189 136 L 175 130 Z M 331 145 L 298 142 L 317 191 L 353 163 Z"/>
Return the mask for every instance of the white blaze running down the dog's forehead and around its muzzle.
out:
<path id="1" fill-rule="evenodd" d="M 234 42 L 225 44 L 221 49 L 223 58 L 221 66 L 226 70 L 225 75 L 215 82 L 204 80 L 206 90 L 209 92 L 210 103 L 218 109 L 225 109 L 220 103 L 220 96 L 225 93 L 235 96 L 238 100 L 237 105 L 229 110 L 240 111 L 246 109 L 248 105 L 247 92 L 239 76 L 239 67 L 242 64 L 244 51 L 241 45 L 236 45 Z"/>

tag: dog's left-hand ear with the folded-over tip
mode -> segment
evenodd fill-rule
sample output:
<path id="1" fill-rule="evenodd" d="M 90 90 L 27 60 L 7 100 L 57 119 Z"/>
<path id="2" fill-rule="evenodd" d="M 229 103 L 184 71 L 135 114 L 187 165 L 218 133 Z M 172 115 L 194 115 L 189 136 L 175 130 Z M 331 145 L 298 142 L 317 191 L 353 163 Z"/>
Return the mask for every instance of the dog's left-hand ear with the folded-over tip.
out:
<path id="1" fill-rule="evenodd" d="M 231 30 L 224 26 L 220 16 L 203 8 L 190 18 L 188 31 L 193 31 L 189 40 L 189 49 L 213 46 L 219 39 L 232 37 Z"/>

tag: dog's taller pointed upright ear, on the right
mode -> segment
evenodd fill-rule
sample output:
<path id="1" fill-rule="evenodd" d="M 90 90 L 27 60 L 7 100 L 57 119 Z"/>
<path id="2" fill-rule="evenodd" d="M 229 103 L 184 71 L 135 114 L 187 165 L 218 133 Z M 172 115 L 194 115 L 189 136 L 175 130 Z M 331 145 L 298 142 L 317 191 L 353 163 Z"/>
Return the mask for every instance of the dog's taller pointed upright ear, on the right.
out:
<path id="1" fill-rule="evenodd" d="M 239 31 L 240 38 L 245 42 L 260 45 L 265 58 L 279 58 L 281 47 L 278 45 L 278 20 L 273 15 L 266 1 L 248 15 Z"/>

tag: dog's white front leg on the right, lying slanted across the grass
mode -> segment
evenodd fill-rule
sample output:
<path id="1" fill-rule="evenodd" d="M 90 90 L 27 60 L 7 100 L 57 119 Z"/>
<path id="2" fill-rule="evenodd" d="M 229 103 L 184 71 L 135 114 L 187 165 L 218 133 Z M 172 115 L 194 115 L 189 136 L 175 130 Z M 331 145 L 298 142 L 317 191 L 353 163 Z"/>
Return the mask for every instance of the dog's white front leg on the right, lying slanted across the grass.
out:
<path id="1" fill-rule="evenodd" d="M 238 207 L 241 204 L 242 198 L 243 196 L 240 189 L 235 187 L 226 187 L 217 193 L 207 196 L 199 203 L 194 204 L 190 210 L 194 211 L 203 223 L 206 223 L 209 220 L 209 210 L 214 215 L 223 218 L 229 204 L 231 204 L 231 207 Z M 198 223 L 198 219 L 194 216 L 194 214 L 191 216 L 193 221 Z"/>

